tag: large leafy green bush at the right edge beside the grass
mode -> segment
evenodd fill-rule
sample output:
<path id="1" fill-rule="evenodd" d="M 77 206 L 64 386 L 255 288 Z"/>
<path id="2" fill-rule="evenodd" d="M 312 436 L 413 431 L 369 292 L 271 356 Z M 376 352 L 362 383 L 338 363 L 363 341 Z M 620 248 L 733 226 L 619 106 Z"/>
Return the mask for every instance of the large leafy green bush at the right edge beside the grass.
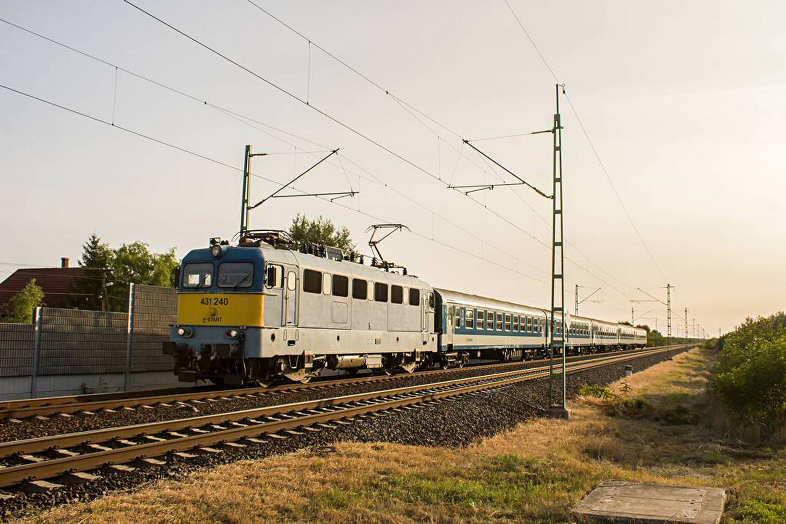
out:
<path id="1" fill-rule="evenodd" d="M 718 343 L 712 389 L 736 422 L 769 440 L 786 423 L 786 315 L 747 318 Z"/>

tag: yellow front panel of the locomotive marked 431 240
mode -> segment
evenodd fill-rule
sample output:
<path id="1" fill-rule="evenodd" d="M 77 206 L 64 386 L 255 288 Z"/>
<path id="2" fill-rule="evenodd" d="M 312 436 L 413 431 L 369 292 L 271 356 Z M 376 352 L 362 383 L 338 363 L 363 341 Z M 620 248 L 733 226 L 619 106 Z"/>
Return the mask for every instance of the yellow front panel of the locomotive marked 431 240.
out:
<path id="1" fill-rule="evenodd" d="M 261 328 L 263 295 L 178 293 L 178 324 Z"/>

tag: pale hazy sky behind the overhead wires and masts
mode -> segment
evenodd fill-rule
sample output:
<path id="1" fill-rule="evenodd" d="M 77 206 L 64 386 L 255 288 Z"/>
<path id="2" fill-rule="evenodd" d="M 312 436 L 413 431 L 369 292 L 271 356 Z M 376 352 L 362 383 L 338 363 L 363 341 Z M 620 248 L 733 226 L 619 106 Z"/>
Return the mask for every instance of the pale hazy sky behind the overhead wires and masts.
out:
<path id="1" fill-rule="evenodd" d="M 411 273 L 437 287 L 548 307 L 550 202 L 526 188 L 498 188 L 472 193 L 479 205 L 439 180 L 511 181 L 460 137 L 552 125 L 555 81 L 505 0 L 256 1 L 459 137 L 422 116 L 419 122 L 244 0 L 134 3 L 437 179 L 122 0 L 2 0 L 0 18 L 296 137 L 4 23 L 0 83 L 234 167 L 242 167 L 245 144 L 286 153 L 253 165 L 255 174 L 281 182 L 324 156 L 325 146 L 340 148 L 340 159 L 296 187 L 332 192 L 351 184 L 359 195 L 335 203 L 270 200 L 252 211 L 252 227 L 285 229 L 297 212 L 323 214 L 347 225 L 367 252 L 366 227 L 400 222 L 413 233 L 391 236 L 380 249 Z M 667 283 L 676 287 L 674 335 L 683 332 L 685 307 L 711 335 L 747 315 L 783 309 L 786 6 L 509 1 L 566 84 L 655 260 L 563 99 L 569 310 L 575 284 L 586 287 L 582 298 L 601 288 L 593 299 L 603 302 L 583 303 L 580 314 L 630 320 L 633 306 L 637 322 L 655 327 L 658 317 L 665 333 L 665 306 L 630 301 L 647 298 L 637 288 L 665 300 L 659 288 Z M 0 110 L 0 278 L 14 264 L 76 260 L 94 231 L 112 246 L 145 240 L 180 256 L 210 236 L 237 232 L 237 170 L 3 89 Z M 550 134 L 476 145 L 550 192 Z M 252 199 L 277 187 L 255 178 Z"/>

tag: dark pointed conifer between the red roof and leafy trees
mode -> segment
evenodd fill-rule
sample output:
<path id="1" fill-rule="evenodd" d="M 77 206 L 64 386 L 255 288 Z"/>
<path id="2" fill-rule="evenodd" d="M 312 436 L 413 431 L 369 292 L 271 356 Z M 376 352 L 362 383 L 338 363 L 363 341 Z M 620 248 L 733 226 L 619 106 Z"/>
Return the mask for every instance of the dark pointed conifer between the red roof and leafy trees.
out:
<path id="1" fill-rule="evenodd" d="M 76 280 L 73 295 L 68 297 L 68 306 L 79 310 L 104 309 L 105 284 L 112 282 L 112 266 L 115 253 L 108 244 L 101 242 L 95 233 L 82 246 L 79 266 L 86 269 L 84 277 Z"/>

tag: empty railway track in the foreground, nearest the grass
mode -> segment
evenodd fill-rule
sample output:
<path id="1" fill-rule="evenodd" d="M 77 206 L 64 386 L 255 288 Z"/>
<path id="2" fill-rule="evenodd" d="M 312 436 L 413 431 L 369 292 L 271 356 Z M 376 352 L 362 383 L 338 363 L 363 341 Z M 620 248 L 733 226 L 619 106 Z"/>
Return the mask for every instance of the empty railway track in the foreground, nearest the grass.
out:
<path id="1" fill-rule="evenodd" d="M 566 367 L 568 373 L 579 372 L 678 349 L 673 346 L 606 354 L 586 361 L 571 361 Z M 555 371 L 561 372 L 561 366 L 556 366 Z M 62 482 L 89 482 L 97 476 L 80 472 L 104 466 L 132 471 L 134 467 L 125 464 L 137 461 L 138 465 L 163 465 L 166 464 L 163 460 L 150 457 L 167 453 L 187 459 L 200 453 L 220 453 L 220 447 L 264 445 L 270 439 L 335 428 L 336 424 L 350 424 L 374 413 L 417 409 L 418 405 L 494 390 L 548 374 L 549 366 L 543 365 L 285 405 L 2 442 L 0 462 L 6 467 L 0 468 L 0 487 L 24 483 L 22 487 L 44 489 L 57 486 L 43 480 L 55 477 L 60 477 Z"/>

